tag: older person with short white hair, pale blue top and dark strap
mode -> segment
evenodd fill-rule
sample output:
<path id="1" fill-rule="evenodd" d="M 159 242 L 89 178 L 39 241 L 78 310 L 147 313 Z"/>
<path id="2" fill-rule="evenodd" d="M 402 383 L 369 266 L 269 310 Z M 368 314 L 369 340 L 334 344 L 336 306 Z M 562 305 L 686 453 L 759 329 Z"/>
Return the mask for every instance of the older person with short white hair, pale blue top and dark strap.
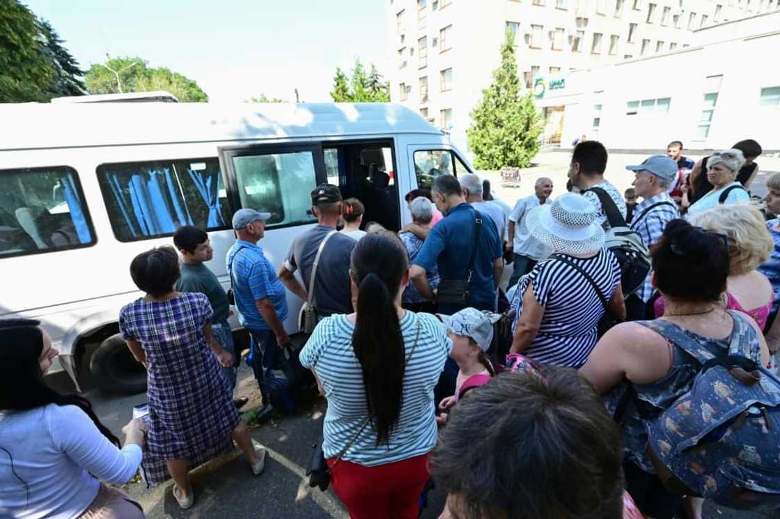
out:
<path id="1" fill-rule="evenodd" d="M 706 211 L 717 205 L 750 201 L 750 194 L 736 180 L 739 168 L 744 163 L 745 156 L 736 148 L 710 155 L 707 160 L 707 180 L 713 187 L 688 208 L 688 214 Z"/>

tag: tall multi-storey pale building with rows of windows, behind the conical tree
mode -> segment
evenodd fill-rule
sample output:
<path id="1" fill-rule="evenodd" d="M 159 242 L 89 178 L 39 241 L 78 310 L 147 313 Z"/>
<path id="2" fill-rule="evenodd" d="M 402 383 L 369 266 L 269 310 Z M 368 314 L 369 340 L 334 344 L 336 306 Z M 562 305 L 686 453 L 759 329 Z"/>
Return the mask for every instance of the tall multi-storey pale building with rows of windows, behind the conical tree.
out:
<path id="1" fill-rule="evenodd" d="M 470 111 L 507 31 L 528 88 L 537 77 L 683 48 L 701 27 L 780 0 L 385 0 L 392 101 L 419 110 L 468 151 Z M 684 80 L 684 70 L 678 71 Z M 547 114 L 555 126 L 555 114 Z M 553 132 L 555 133 L 555 132 Z"/>

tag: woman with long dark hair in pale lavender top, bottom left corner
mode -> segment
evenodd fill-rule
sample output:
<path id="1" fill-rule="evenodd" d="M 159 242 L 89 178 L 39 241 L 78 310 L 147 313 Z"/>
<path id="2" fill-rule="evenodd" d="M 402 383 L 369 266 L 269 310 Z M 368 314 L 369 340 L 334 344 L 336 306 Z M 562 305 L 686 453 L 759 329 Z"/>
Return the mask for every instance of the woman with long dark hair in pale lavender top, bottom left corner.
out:
<path id="1" fill-rule="evenodd" d="M 101 485 L 136 474 L 144 423 L 126 425 L 120 450 L 87 399 L 49 388 L 43 375 L 57 350 L 39 325 L 0 320 L 0 510 L 20 519 L 146 517 L 138 503 Z"/>

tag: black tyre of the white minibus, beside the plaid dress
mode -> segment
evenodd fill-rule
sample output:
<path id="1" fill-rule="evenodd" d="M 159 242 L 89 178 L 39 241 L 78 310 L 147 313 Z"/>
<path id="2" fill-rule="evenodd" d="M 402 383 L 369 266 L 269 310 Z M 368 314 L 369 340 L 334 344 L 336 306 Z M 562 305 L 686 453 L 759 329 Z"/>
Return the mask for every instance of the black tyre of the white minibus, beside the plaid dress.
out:
<path id="1" fill-rule="evenodd" d="M 147 372 L 117 333 L 105 339 L 90 358 L 90 373 L 97 387 L 119 393 L 144 393 Z"/>

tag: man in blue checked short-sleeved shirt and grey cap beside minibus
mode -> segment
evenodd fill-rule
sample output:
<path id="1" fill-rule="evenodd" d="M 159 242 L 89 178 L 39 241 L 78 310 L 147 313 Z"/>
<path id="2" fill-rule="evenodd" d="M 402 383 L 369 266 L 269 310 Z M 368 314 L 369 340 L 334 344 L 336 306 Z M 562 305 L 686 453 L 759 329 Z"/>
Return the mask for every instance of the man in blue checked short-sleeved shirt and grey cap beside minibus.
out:
<path id="1" fill-rule="evenodd" d="M 276 277 L 274 266 L 257 245 L 265 235 L 267 212 L 239 209 L 233 215 L 236 243 L 230 247 L 225 261 L 231 276 L 233 297 L 239 311 L 239 322 L 249 332 L 254 378 L 263 396 L 265 415 L 271 411 L 273 370 L 280 347 L 289 347 L 290 338 L 284 327 L 287 318 L 287 294 Z"/>

